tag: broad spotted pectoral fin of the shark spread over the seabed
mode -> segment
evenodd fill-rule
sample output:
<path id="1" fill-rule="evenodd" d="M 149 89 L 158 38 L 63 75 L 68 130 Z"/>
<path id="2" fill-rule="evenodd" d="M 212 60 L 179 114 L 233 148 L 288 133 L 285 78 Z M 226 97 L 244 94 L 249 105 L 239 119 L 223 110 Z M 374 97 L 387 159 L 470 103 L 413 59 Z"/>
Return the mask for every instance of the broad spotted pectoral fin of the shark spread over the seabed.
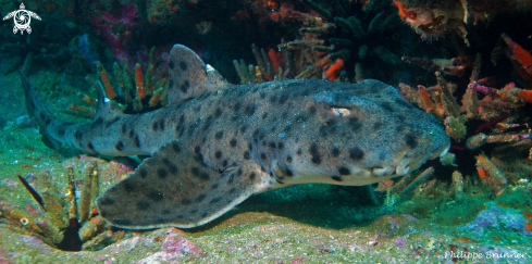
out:
<path id="1" fill-rule="evenodd" d="M 218 173 L 172 140 L 96 203 L 113 226 L 190 228 L 211 222 L 253 194 L 258 185 L 252 180 L 244 178 L 242 169 Z"/>

